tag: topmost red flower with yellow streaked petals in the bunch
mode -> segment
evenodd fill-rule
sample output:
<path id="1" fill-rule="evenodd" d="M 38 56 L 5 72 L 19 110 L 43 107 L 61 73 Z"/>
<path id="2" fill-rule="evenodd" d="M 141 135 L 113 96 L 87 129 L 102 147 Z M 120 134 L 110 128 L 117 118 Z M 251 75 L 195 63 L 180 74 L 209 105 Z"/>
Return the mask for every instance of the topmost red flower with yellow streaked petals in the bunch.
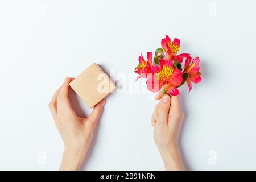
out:
<path id="1" fill-rule="evenodd" d="M 166 52 L 166 60 L 174 60 L 175 55 L 180 50 L 180 40 L 175 38 L 171 41 L 168 35 L 161 41 L 162 47 Z"/>

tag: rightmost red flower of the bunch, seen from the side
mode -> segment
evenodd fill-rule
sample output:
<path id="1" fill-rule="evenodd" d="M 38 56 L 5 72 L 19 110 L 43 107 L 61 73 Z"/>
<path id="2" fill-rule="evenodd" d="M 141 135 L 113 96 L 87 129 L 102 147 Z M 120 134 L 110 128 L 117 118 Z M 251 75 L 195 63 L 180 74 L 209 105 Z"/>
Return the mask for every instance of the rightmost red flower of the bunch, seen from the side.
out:
<path id="1" fill-rule="evenodd" d="M 195 59 L 193 59 L 192 63 L 191 63 L 191 57 L 187 57 L 187 59 L 185 60 L 185 69 L 184 69 L 184 73 L 188 73 L 188 78 L 186 80 L 187 84 L 188 84 L 188 92 L 190 92 L 190 90 L 192 89 L 191 86 L 191 81 L 194 83 L 199 83 L 202 78 L 201 78 L 201 73 L 199 72 L 199 63 L 200 63 L 200 59 L 199 57 L 196 57 Z"/>

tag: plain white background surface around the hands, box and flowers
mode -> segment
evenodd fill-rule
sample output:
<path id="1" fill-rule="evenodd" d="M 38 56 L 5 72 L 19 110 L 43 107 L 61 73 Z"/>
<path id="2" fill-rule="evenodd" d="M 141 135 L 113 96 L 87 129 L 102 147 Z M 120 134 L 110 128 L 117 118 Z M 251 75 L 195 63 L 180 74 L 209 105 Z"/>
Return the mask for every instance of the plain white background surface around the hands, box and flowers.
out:
<path id="1" fill-rule="evenodd" d="M 255 6 L 216 0 L 1 0 L 0 169 L 58 169 L 64 146 L 48 102 L 65 76 L 75 77 L 96 61 L 127 88 L 125 77 L 133 74 L 139 54 L 154 52 L 165 34 L 181 40 L 180 52 L 201 60 L 203 81 L 189 94 L 184 86 L 180 96 L 187 169 L 256 169 Z M 128 80 L 146 88 L 144 80 Z M 88 115 L 70 95 L 77 113 Z M 107 98 L 82 169 L 163 169 L 152 138 L 157 102 L 151 97 L 122 91 Z"/>

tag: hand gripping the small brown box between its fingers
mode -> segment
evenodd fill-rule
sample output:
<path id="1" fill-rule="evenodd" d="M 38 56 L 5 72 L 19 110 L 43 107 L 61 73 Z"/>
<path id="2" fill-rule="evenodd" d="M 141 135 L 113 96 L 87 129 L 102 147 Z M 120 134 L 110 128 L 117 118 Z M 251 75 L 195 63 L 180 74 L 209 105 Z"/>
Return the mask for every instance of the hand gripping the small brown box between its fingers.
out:
<path id="1" fill-rule="evenodd" d="M 88 118 L 78 117 L 68 98 L 69 82 L 72 80 L 69 77 L 65 78 L 63 85 L 49 102 L 49 108 L 65 146 L 60 170 L 80 169 L 90 146 L 94 127 L 106 102 L 106 100 L 102 100 L 94 106 Z"/>

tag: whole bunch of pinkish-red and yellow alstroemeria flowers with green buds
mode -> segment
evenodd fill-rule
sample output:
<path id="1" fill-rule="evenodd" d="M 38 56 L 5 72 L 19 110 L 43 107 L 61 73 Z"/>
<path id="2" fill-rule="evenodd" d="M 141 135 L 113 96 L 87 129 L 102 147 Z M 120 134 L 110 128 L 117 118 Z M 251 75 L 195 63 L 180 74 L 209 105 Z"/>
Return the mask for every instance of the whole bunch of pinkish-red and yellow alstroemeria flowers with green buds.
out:
<path id="1" fill-rule="evenodd" d="M 155 51 L 154 65 L 152 52 L 147 52 L 147 61 L 139 56 L 139 64 L 135 68 L 138 78 L 146 78 L 147 89 L 151 92 L 159 92 L 162 89 L 164 94 L 177 96 L 179 88 L 185 82 L 188 85 L 188 93 L 192 89 L 191 82 L 199 83 L 201 73 L 199 72 L 199 57 L 192 59 L 188 53 L 180 53 L 180 40 L 175 38 L 172 41 L 168 35 L 162 39 L 162 48 Z M 185 59 L 184 69 L 183 60 Z"/>

